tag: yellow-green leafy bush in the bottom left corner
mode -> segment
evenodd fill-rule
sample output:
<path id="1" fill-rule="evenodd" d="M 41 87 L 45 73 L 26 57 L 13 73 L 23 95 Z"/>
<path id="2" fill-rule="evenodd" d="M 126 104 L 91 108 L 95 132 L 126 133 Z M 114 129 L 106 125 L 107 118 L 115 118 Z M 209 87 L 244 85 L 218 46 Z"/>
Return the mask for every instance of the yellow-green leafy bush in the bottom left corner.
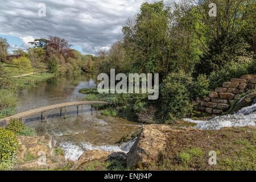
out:
<path id="1" fill-rule="evenodd" d="M 11 170 L 18 154 L 18 138 L 6 129 L 0 128 L 0 171 Z"/>

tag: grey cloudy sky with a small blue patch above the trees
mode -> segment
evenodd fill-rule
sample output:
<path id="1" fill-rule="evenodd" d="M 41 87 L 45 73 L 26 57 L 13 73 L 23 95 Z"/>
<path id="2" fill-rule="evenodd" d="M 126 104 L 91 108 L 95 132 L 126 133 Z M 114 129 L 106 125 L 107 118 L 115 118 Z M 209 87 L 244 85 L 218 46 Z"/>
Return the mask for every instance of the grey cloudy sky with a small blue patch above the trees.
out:
<path id="1" fill-rule="evenodd" d="M 0 0 L 0 37 L 14 49 L 36 38 L 59 36 L 84 54 L 108 49 L 143 2 L 154 0 Z M 42 16 L 42 3 L 46 16 Z M 40 15 L 40 16 L 39 16 Z"/>

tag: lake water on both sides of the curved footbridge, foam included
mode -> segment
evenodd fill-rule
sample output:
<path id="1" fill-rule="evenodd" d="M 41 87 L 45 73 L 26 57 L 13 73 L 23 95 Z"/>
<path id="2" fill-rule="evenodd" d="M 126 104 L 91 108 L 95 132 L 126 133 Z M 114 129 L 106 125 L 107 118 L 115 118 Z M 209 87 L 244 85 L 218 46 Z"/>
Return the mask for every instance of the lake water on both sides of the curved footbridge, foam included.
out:
<path id="1" fill-rule="evenodd" d="M 23 89 L 18 92 L 18 112 L 36 109 L 38 107 L 77 101 L 85 97 L 79 93 L 81 88 L 96 88 L 95 77 L 89 74 L 79 76 L 61 76 L 42 81 L 35 88 Z M 84 106 L 81 117 L 81 107 L 77 115 L 76 106 L 68 107 L 68 117 L 60 117 L 60 110 L 49 111 L 47 122 L 41 121 L 40 114 L 26 118 L 28 127 L 35 128 L 38 135 L 49 135 L 55 147 L 65 151 L 65 158 L 76 160 L 88 150 L 106 150 L 128 152 L 135 142 L 130 141 L 116 146 L 123 135 L 135 131 L 138 123 L 121 118 L 105 117 L 97 114 L 91 106 Z"/>

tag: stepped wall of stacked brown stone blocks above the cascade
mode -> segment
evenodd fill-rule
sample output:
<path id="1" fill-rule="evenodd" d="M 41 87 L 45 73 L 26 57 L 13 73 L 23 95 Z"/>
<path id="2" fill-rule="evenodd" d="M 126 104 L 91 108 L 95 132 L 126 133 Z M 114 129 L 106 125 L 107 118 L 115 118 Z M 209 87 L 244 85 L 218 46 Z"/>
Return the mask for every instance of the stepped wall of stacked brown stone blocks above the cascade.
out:
<path id="1" fill-rule="evenodd" d="M 222 87 L 210 91 L 209 96 L 197 106 L 197 110 L 209 114 L 222 114 L 227 111 L 241 93 L 256 88 L 256 75 L 243 75 L 224 82 Z"/>

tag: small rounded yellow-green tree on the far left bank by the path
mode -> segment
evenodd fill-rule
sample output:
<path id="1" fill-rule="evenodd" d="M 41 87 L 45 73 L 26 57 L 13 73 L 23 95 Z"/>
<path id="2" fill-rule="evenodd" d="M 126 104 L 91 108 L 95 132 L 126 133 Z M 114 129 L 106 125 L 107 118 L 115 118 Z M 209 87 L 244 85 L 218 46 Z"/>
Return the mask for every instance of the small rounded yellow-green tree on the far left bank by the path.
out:
<path id="1" fill-rule="evenodd" d="M 42 47 L 28 49 L 28 59 L 30 59 L 33 68 L 33 77 L 35 77 L 36 68 L 46 68 L 45 64 L 43 64 L 45 57 L 46 53 Z"/>

